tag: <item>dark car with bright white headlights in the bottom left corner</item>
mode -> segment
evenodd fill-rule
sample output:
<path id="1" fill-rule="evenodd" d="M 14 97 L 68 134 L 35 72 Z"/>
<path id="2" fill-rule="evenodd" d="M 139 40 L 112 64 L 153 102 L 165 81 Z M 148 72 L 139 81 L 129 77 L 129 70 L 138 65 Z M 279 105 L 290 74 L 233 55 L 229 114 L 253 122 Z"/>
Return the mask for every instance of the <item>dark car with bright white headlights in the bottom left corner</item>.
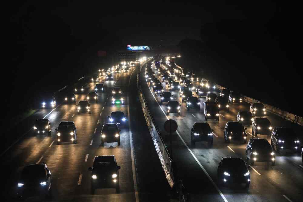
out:
<path id="1" fill-rule="evenodd" d="M 17 184 L 20 198 L 44 195 L 51 196 L 52 174 L 46 164 L 30 164 L 23 168 Z"/>

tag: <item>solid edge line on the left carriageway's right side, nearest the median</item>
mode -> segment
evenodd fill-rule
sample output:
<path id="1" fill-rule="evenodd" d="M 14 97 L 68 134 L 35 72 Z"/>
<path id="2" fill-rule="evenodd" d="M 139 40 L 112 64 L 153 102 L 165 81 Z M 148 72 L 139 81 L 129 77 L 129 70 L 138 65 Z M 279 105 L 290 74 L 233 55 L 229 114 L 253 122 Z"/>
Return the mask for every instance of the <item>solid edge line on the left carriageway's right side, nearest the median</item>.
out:
<path id="1" fill-rule="evenodd" d="M 132 74 L 134 73 L 135 69 L 132 71 Z M 129 77 L 129 81 L 128 81 L 128 91 L 129 91 L 129 85 L 131 83 L 132 74 Z M 149 89 L 149 90 L 151 90 L 151 89 Z M 130 143 L 130 146 L 131 146 L 131 157 L 132 157 L 132 173 L 133 173 L 133 181 L 134 181 L 134 189 L 135 189 L 135 199 L 136 199 L 136 202 L 139 202 L 137 176 L 136 176 L 136 170 L 135 170 L 134 145 L 133 145 L 133 138 L 132 138 L 132 127 L 131 127 L 131 124 L 130 124 L 131 123 L 131 118 L 129 116 L 130 113 L 129 113 L 128 103 L 129 103 L 129 99 L 128 99 L 128 94 L 127 94 L 127 115 L 128 115 L 128 128 L 129 128 L 129 143 Z"/>

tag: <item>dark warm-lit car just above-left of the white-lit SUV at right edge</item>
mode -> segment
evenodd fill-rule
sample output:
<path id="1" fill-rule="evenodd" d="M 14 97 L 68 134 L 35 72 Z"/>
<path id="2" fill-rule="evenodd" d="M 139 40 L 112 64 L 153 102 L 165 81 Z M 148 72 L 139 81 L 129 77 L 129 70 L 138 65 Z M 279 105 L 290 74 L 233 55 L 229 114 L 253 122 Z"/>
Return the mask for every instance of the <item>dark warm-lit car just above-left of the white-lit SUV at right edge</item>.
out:
<path id="1" fill-rule="evenodd" d="M 251 124 L 251 131 L 256 137 L 258 134 L 270 135 L 272 131 L 271 123 L 267 118 L 254 118 Z"/>

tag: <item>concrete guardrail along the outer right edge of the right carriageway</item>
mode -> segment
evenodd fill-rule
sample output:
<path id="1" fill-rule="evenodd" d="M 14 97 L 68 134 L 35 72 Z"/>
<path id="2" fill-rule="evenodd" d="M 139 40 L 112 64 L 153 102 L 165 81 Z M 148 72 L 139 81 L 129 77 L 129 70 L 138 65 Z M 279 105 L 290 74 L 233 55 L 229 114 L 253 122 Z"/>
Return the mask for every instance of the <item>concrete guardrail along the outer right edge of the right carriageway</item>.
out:
<path id="1" fill-rule="evenodd" d="M 176 64 L 176 66 L 177 66 L 178 68 L 181 68 L 181 67 L 178 66 L 177 64 Z M 181 69 L 183 69 L 183 68 L 181 68 Z M 208 80 L 208 79 L 205 79 L 205 78 L 201 78 L 201 79 L 203 79 L 203 80 Z M 216 88 L 218 88 L 218 89 L 220 89 L 220 90 L 226 89 L 224 86 L 220 86 L 220 85 L 218 85 L 218 84 L 215 84 L 215 86 L 216 86 Z M 245 96 L 245 95 L 242 95 L 242 96 L 243 96 L 243 98 L 244 98 L 244 101 L 246 101 L 246 102 L 248 102 L 248 103 L 253 103 L 253 102 L 260 102 L 260 103 L 262 103 L 261 101 L 256 100 L 256 99 L 254 99 L 254 98 L 250 98 L 250 97 L 247 97 L 247 96 Z M 276 108 L 276 107 L 274 107 L 274 106 L 271 106 L 271 105 L 269 105 L 269 104 L 265 104 L 265 103 L 262 103 L 262 104 L 264 104 L 265 109 L 267 109 L 267 110 L 270 111 L 271 113 L 276 114 L 276 115 L 278 115 L 279 117 L 282 117 L 282 118 L 284 118 L 284 119 L 286 119 L 286 120 L 288 120 L 288 121 L 292 121 L 292 122 L 294 122 L 294 123 L 296 123 L 296 124 L 298 124 L 298 125 L 303 126 L 303 118 L 302 118 L 302 117 L 297 116 L 297 115 L 295 115 L 295 114 L 292 114 L 292 113 L 290 113 L 290 112 L 288 112 L 288 111 L 283 111 L 283 110 L 281 110 L 281 109 L 279 109 L 279 108 Z"/>

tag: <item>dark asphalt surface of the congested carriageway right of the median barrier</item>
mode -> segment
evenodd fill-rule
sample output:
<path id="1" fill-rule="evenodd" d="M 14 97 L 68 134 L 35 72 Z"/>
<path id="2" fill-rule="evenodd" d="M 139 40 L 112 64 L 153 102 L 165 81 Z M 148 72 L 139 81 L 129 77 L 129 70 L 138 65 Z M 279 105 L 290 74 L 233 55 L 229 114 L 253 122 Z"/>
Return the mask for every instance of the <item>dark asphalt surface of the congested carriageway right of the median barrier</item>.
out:
<path id="1" fill-rule="evenodd" d="M 154 66 L 152 65 L 152 68 Z M 155 71 L 155 69 L 154 69 Z M 165 115 L 165 104 L 160 104 L 160 96 L 153 95 L 149 82 L 145 80 L 145 66 L 142 68 L 141 88 L 147 100 L 155 124 L 161 131 L 162 137 L 169 145 L 169 135 L 164 131 L 163 124 L 168 119 L 178 123 L 178 130 L 173 134 L 172 157 L 178 168 L 178 177 L 184 181 L 186 190 L 191 193 L 192 201 L 301 201 L 303 198 L 303 166 L 301 153 L 286 153 L 277 155 L 275 166 L 267 167 L 266 163 L 255 163 L 249 168 L 251 184 L 248 190 L 240 187 L 218 187 L 217 168 L 222 157 L 236 156 L 245 160 L 245 148 L 247 144 L 238 141 L 224 142 L 223 130 L 227 121 L 236 121 L 238 111 L 249 111 L 250 104 L 231 104 L 230 112 L 220 111 L 220 121 L 210 120 L 208 123 L 214 129 L 214 143 L 208 148 L 207 142 L 197 142 L 195 146 L 190 144 L 190 130 L 198 121 L 204 121 L 204 107 L 187 111 L 186 102 L 181 101 L 178 91 L 172 91 L 174 100 L 178 100 L 181 106 L 181 115 Z M 193 83 L 195 87 L 198 82 Z M 168 86 L 165 85 L 165 91 Z M 266 89 L 267 90 L 267 89 Z M 268 89 L 270 91 L 270 89 Z M 215 91 L 218 94 L 218 91 Z M 198 97 L 195 92 L 194 96 Z M 199 98 L 201 103 L 205 98 Z M 282 119 L 275 114 L 268 113 L 266 118 L 271 121 L 272 127 L 292 127 L 297 134 L 301 134 L 302 127 L 290 121 Z M 248 139 L 253 138 L 251 126 L 247 127 Z M 258 138 L 266 138 L 270 142 L 270 136 L 258 135 Z"/>

